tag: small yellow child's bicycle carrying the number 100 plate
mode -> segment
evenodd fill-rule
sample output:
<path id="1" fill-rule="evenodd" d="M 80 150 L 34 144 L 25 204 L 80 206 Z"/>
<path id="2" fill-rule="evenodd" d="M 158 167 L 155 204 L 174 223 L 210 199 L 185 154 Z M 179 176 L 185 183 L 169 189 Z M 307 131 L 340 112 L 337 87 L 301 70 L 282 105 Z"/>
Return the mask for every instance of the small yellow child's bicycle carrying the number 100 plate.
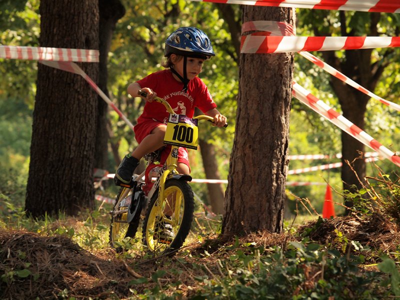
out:
<path id="1" fill-rule="evenodd" d="M 141 90 L 138 93 L 146 96 Z M 135 236 L 140 221 L 144 219 L 143 245 L 154 255 L 172 254 L 182 246 L 193 219 L 193 191 L 187 183 L 192 178 L 177 172 L 178 147 L 197 149 L 198 120 L 212 122 L 213 118 L 177 115 L 164 99 L 155 97 L 154 100 L 162 103 L 169 112 L 164 143 L 171 144 L 171 151 L 163 165 L 158 163 L 162 149 L 145 155 L 146 169 L 141 174 L 133 174 L 129 184 L 115 179 L 121 189 L 114 209 L 110 211 L 109 241 L 117 251 L 122 250 L 123 239 Z"/>

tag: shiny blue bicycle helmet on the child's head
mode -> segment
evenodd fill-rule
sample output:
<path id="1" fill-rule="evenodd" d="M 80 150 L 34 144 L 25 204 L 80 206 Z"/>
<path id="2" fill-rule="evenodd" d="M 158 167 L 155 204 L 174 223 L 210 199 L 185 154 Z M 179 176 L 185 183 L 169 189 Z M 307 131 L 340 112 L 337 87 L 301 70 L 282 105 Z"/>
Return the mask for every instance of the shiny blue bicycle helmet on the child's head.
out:
<path id="1" fill-rule="evenodd" d="M 178 54 L 209 59 L 215 53 L 207 34 L 195 27 L 180 27 L 165 40 L 165 56 Z"/>

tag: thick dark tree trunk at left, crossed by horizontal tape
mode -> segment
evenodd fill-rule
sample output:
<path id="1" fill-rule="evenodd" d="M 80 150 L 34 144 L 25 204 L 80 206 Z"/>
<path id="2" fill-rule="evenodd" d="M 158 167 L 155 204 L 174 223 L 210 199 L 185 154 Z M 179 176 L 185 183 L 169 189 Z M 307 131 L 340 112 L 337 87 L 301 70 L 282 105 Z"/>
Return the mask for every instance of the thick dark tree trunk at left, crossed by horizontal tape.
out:
<path id="1" fill-rule="evenodd" d="M 98 0 L 41 0 L 40 45 L 98 49 Z M 97 63 L 81 63 L 97 79 Z M 38 65 L 25 209 L 34 216 L 94 206 L 97 96 L 79 75 Z"/>

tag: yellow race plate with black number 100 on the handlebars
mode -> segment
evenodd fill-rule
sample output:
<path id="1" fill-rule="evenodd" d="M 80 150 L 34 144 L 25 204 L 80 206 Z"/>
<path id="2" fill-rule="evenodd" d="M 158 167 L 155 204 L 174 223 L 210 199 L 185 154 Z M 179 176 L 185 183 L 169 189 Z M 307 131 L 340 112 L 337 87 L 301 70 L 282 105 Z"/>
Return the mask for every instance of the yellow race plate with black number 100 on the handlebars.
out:
<path id="1" fill-rule="evenodd" d="M 197 137 L 197 119 L 192 119 L 183 114 L 169 114 L 164 143 L 197 149 Z"/>

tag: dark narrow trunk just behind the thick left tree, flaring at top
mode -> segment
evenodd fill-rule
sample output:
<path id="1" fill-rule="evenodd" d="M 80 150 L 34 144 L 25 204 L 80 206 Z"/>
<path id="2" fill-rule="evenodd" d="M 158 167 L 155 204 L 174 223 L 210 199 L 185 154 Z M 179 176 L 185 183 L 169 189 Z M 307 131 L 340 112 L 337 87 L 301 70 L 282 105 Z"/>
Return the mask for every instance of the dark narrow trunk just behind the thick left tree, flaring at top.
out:
<path id="1" fill-rule="evenodd" d="M 98 87 L 108 95 L 107 80 L 107 61 L 108 52 L 111 46 L 112 33 L 115 23 L 125 14 L 125 8 L 120 0 L 99 0 L 99 63 L 98 63 Z M 108 161 L 108 130 L 107 113 L 108 104 L 98 96 L 97 100 L 97 128 L 96 144 L 94 155 L 94 166 L 101 169 L 107 168 Z"/>

